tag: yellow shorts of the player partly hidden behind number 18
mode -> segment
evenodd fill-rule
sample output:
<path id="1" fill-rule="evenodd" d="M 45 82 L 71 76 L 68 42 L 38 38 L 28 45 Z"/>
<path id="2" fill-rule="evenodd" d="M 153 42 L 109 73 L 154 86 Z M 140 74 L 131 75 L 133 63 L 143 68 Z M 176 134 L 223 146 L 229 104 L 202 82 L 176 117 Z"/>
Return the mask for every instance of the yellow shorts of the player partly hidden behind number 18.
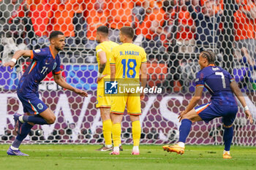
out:
<path id="1" fill-rule="evenodd" d="M 110 76 L 105 78 L 109 79 Z M 100 80 L 97 85 L 97 104 L 96 107 L 111 107 L 111 96 L 105 96 L 104 79 Z"/>

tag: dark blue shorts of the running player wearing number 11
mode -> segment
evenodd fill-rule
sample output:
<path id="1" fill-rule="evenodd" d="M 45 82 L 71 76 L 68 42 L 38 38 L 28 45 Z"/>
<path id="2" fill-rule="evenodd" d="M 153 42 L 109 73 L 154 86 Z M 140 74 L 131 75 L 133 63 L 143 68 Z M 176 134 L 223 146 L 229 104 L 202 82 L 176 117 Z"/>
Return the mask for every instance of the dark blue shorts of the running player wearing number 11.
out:
<path id="1" fill-rule="evenodd" d="M 39 99 L 38 93 L 23 94 L 17 91 L 18 98 L 23 105 L 23 112 L 29 112 L 30 114 L 38 115 L 44 112 L 48 107 Z"/>

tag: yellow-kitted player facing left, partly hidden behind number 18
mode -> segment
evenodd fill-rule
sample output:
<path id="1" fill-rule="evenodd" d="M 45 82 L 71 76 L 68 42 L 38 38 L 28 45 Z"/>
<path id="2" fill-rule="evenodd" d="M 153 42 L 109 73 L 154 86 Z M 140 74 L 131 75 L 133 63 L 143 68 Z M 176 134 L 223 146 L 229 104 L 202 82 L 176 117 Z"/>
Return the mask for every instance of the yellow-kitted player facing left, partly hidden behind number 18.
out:
<path id="1" fill-rule="evenodd" d="M 97 62 L 99 66 L 99 73 L 97 78 L 97 104 L 96 107 L 100 110 L 102 117 L 102 131 L 105 139 L 105 145 L 99 148 L 98 151 L 112 150 L 112 122 L 110 120 L 110 96 L 104 94 L 104 80 L 110 79 L 110 55 L 113 47 L 118 46 L 116 42 L 111 42 L 108 39 L 108 27 L 99 26 L 97 28 L 97 42 L 100 44 L 96 47 Z"/>

